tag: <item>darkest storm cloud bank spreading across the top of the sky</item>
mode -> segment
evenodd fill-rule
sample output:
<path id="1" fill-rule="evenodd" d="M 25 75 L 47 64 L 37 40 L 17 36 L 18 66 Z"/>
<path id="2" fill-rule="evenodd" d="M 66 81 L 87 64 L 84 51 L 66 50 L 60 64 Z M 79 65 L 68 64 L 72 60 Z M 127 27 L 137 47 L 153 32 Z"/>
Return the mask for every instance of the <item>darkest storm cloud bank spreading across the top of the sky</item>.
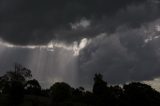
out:
<path id="1" fill-rule="evenodd" d="M 137 27 L 159 17 L 157 3 L 149 1 L 0 0 L 0 37 L 20 45 L 44 44 L 51 39 L 71 42 L 94 37 L 121 24 Z M 73 31 L 70 23 L 83 17 L 93 21 L 91 26 Z"/>

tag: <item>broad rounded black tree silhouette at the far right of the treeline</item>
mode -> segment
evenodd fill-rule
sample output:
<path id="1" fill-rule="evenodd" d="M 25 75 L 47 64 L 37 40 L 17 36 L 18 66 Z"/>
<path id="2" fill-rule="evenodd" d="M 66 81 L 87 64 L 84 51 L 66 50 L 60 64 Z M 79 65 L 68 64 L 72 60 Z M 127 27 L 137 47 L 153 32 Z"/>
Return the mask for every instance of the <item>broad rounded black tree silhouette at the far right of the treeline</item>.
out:
<path id="1" fill-rule="evenodd" d="M 151 86 L 139 82 L 124 85 L 125 100 L 131 105 L 160 105 L 160 94 Z"/>

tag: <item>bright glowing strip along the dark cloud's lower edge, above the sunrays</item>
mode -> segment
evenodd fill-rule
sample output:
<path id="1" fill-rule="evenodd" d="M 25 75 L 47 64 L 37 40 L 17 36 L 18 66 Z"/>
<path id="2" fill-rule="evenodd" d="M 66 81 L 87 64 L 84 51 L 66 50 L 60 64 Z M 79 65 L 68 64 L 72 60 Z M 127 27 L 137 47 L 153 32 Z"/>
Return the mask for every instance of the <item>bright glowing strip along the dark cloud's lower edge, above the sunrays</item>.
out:
<path id="1" fill-rule="evenodd" d="M 19 46 L 19 45 L 13 45 L 7 42 L 4 42 L 3 40 L 0 40 L 0 45 L 8 48 L 28 48 L 28 49 L 37 49 L 40 50 L 46 50 L 48 52 L 54 52 L 55 48 L 62 48 L 66 50 L 73 51 L 74 56 L 78 56 L 81 49 L 83 49 L 87 44 L 90 43 L 91 40 L 88 40 L 87 38 L 83 38 L 79 43 L 77 41 L 73 42 L 70 45 L 66 45 L 64 43 L 60 42 L 54 42 L 50 41 L 47 45 L 27 45 L 27 46 Z"/>

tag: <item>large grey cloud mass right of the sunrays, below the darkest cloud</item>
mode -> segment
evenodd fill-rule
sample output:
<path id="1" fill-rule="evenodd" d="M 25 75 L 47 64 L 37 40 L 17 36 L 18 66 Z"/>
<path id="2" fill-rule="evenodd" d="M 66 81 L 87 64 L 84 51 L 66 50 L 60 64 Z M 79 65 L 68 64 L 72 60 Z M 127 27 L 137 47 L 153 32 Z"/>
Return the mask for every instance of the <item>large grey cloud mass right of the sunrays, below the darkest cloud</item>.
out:
<path id="1" fill-rule="evenodd" d="M 102 73 L 110 84 L 152 80 L 160 76 L 160 39 L 146 43 L 144 27 L 120 29 L 112 35 L 100 34 L 80 52 L 80 83 L 91 83 L 90 78 L 95 73 Z M 154 33 L 149 36 L 159 35 L 151 26 L 148 30 Z"/>

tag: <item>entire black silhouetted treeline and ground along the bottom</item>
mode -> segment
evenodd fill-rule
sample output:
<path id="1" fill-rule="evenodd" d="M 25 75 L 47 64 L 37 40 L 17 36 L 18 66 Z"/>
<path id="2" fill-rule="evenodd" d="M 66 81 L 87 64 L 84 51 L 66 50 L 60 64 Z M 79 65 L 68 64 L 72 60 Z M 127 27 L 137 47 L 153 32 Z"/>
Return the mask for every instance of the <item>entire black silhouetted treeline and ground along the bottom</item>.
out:
<path id="1" fill-rule="evenodd" d="M 42 89 L 29 69 L 16 64 L 0 77 L 0 106 L 160 106 L 160 93 L 139 82 L 108 86 L 101 74 L 92 92 L 64 82 Z"/>

